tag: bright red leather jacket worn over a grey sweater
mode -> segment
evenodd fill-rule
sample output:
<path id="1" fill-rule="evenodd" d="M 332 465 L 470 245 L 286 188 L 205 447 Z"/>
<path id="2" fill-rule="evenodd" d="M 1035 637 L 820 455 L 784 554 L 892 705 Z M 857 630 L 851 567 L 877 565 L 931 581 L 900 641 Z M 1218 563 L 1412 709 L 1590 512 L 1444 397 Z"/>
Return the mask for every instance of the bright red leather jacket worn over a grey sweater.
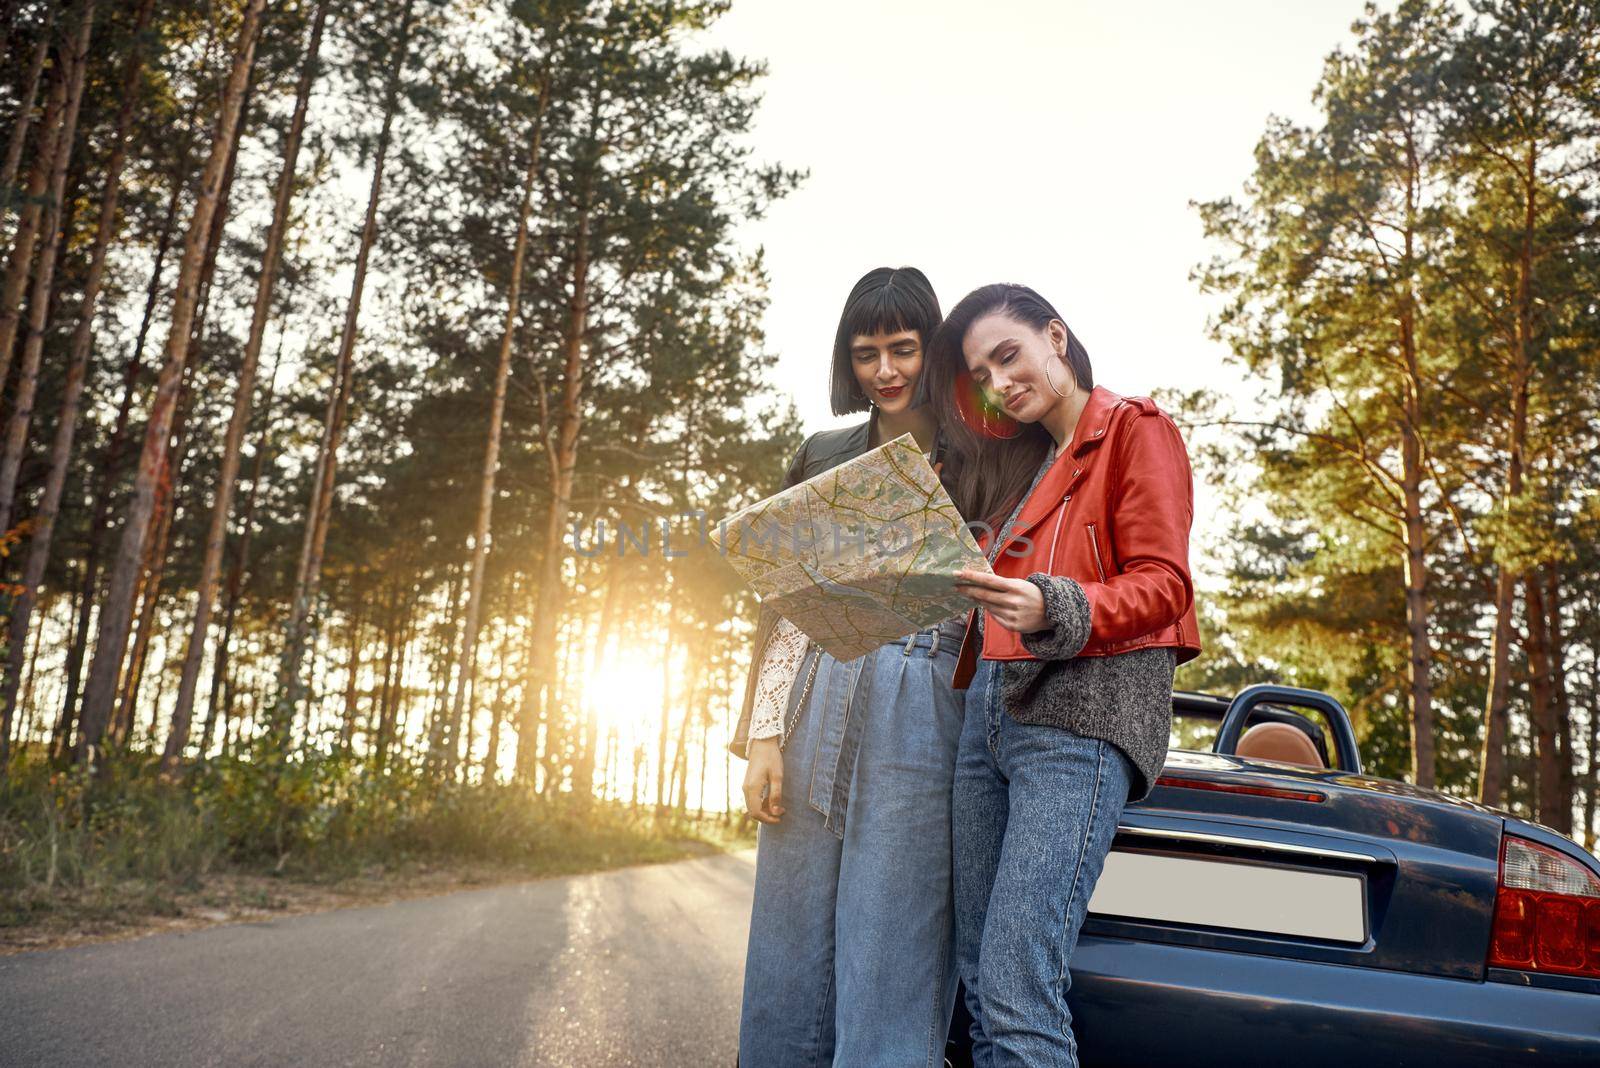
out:
<path id="1" fill-rule="evenodd" d="M 1096 385 L 1072 443 L 1022 505 L 994 569 L 1011 579 L 1035 571 L 1077 579 L 1090 603 L 1090 640 L 1078 656 L 1173 646 L 1184 664 L 1200 656 L 1192 523 L 1194 478 L 1178 425 L 1149 397 Z M 987 552 L 989 536 L 978 544 Z M 976 620 L 970 614 L 966 622 L 957 689 L 978 670 Z M 994 619 L 982 633 L 984 659 L 1034 659 L 1021 636 Z"/>

